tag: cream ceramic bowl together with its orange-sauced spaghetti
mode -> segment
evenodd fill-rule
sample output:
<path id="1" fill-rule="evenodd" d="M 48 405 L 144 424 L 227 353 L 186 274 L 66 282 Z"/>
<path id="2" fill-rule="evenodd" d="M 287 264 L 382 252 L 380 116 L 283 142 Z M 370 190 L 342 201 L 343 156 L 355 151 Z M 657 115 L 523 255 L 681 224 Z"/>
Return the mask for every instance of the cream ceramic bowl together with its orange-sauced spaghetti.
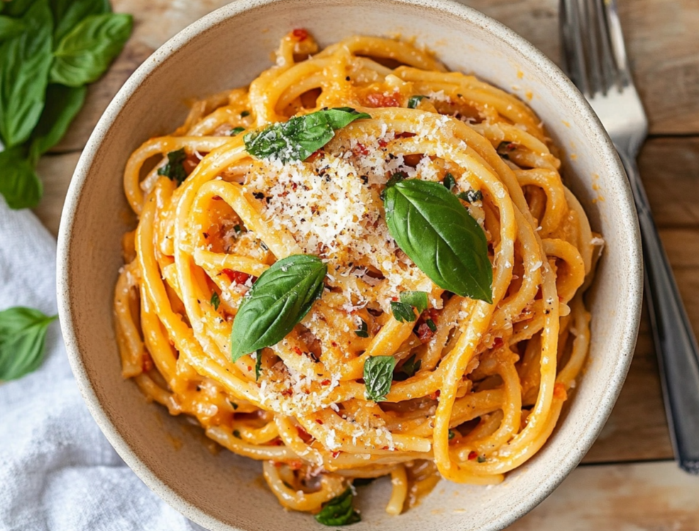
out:
<path id="1" fill-rule="evenodd" d="M 450 1 L 189 26 L 97 124 L 59 254 L 92 415 L 214 530 L 509 525 L 593 444 L 641 304 L 600 122 Z"/>

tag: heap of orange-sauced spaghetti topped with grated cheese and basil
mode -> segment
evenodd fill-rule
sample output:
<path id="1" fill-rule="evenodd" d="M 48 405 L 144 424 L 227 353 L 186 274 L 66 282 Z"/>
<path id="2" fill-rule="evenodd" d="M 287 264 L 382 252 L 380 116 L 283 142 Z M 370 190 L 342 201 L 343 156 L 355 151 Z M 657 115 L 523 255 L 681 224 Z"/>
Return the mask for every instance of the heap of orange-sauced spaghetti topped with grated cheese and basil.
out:
<path id="1" fill-rule="evenodd" d="M 499 483 L 551 435 L 590 341 L 583 291 L 602 239 L 559 168 L 516 97 L 411 43 L 319 50 L 295 30 L 249 87 L 194 103 L 126 163 L 138 226 L 114 299 L 123 376 L 263 461 L 292 510 L 334 510 L 379 476 L 391 478 L 393 515 L 440 477 Z M 487 267 L 446 270 L 444 282 L 481 275 L 484 295 L 434 280 L 444 242 L 432 233 L 412 251 L 397 236 L 424 228 L 399 219 L 415 181 L 475 227 Z M 405 208 L 423 212 L 420 200 Z M 268 332 L 290 331 L 236 354 L 261 319 L 248 327 L 256 279 L 273 282 L 298 265 L 275 263 L 297 256 L 321 271 L 307 312 L 287 323 L 280 310 Z M 358 518 L 341 507 L 341 523 Z"/>

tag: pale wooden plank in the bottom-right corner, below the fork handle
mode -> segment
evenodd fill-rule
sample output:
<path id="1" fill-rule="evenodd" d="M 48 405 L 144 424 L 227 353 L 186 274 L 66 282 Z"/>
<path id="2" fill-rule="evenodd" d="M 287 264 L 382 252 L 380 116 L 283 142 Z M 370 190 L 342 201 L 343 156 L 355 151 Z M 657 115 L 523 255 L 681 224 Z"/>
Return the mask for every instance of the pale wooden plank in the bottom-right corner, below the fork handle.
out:
<path id="1" fill-rule="evenodd" d="M 699 477 L 672 461 L 579 466 L 507 531 L 696 531 Z"/>

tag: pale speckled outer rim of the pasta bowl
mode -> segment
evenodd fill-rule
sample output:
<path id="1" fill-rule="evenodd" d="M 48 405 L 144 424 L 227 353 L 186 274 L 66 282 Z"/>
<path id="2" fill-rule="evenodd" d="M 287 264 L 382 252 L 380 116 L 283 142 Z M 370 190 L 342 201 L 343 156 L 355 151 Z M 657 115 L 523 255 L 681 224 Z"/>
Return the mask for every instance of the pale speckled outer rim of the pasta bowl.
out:
<path id="1" fill-rule="evenodd" d="M 87 176 L 89 170 L 94 162 L 95 153 L 97 153 L 97 147 L 104 141 L 106 133 L 109 132 L 112 124 L 119 116 L 121 109 L 128 102 L 133 94 L 137 91 L 138 87 L 148 79 L 148 77 L 158 69 L 158 67 L 170 55 L 180 50 L 183 46 L 187 45 L 190 40 L 197 38 L 202 35 L 210 28 L 218 25 L 219 23 L 224 23 L 229 18 L 240 15 L 245 11 L 251 11 L 253 9 L 259 9 L 268 4 L 275 4 L 280 1 L 285 0 L 238 0 L 226 6 L 222 6 L 219 9 L 212 11 L 206 16 L 199 18 L 199 20 L 194 21 L 182 31 L 178 32 L 175 36 L 167 40 L 163 45 L 155 50 L 155 52 L 150 55 L 150 57 L 145 60 L 133 74 L 126 80 L 119 92 L 115 95 L 114 99 L 107 106 L 104 114 L 97 122 L 92 134 L 87 141 L 86 146 L 82 151 L 82 155 L 79 158 L 77 167 L 75 168 L 75 173 L 70 182 L 70 187 L 67 191 L 67 196 L 65 200 L 65 206 L 62 211 L 60 220 L 60 229 L 57 241 L 57 298 L 58 298 L 58 310 L 60 314 L 60 325 L 62 329 L 63 338 L 65 340 L 66 351 L 68 359 L 70 361 L 70 366 L 72 372 L 75 375 L 75 380 L 77 382 L 78 388 L 85 403 L 87 404 L 89 412 L 94 417 L 94 420 L 99 425 L 101 431 L 106 436 L 109 443 L 114 447 L 116 452 L 121 456 L 123 461 L 136 473 L 136 476 L 141 479 L 152 491 L 154 491 L 158 496 L 165 500 L 169 505 L 171 505 L 175 510 L 179 511 L 186 518 L 189 518 L 193 522 L 206 527 L 207 529 L 216 531 L 242 531 L 237 527 L 233 527 L 218 518 L 215 518 L 204 510 L 199 508 L 197 505 L 187 500 L 184 496 L 174 491 L 167 483 L 161 480 L 158 475 L 151 469 L 151 467 L 146 464 L 146 462 L 141 459 L 136 451 L 134 451 L 123 439 L 121 433 L 116 429 L 114 422 L 112 422 L 111 417 L 106 413 L 102 407 L 99 399 L 97 398 L 97 393 L 95 392 L 94 385 L 90 380 L 89 374 L 82 361 L 82 354 L 79 348 L 79 340 L 75 334 L 75 326 L 73 322 L 73 314 L 71 310 L 71 300 L 70 300 L 70 253 L 71 253 L 71 243 L 73 240 L 73 226 L 75 221 L 75 215 L 79 207 L 79 200 L 82 195 L 82 190 L 87 182 Z M 605 410 L 605 415 L 598 415 L 595 418 L 590 419 L 586 429 L 584 430 L 586 436 L 589 438 L 589 444 L 575 445 L 573 448 L 569 449 L 568 452 L 563 456 L 561 461 L 558 462 L 559 470 L 562 472 L 552 474 L 544 481 L 539 484 L 539 487 L 534 491 L 534 495 L 529 496 L 529 498 L 518 500 L 512 506 L 512 509 L 507 513 L 502 513 L 500 518 L 495 518 L 491 520 L 487 527 L 483 527 L 483 530 L 500 530 L 507 525 L 528 513 L 536 505 L 541 503 L 554 489 L 563 481 L 563 479 L 568 476 L 568 473 L 573 471 L 580 460 L 585 456 L 590 446 L 593 444 L 595 439 L 600 434 L 602 427 L 604 427 L 607 418 L 612 410 L 613 405 L 622 389 L 622 384 L 627 376 L 629 366 L 632 361 L 634 354 L 634 347 L 637 339 L 637 331 L 639 327 L 640 313 L 641 313 L 641 302 L 642 302 L 642 253 L 641 253 L 641 243 L 640 234 L 638 226 L 638 218 L 636 210 L 634 208 L 634 202 L 632 199 L 632 192 L 629 186 L 626 174 L 624 173 L 622 164 L 617 155 L 617 152 L 610 140 L 609 136 L 602 126 L 601 121 L 595 114 L 593 109 L 590 107 L 588 102 L 585 100 L 582 94 L 575 87 L 573 82 L 566 77 L 566 75 L 552 62 L 549 58 L 544 55 L 538 48 L 529 43 L 528 40 L 524 39 L 519 34 L 512 31 L 510 28 L 504 24 L 496 21 L 494 18 L 481 13 L 480 11 L 473 9 L 469 6 L 458 3 L 456 0 L 380 0 L 382 4 L 397 4 L 397 6 L 407 5 L 407 6 L 420 6 L 432 11 L 437 11 L 449 16 L 454 16 L 461 21 L 465 21 L 476 26 L 480 26 L 488 31 L 495 38 L 505 43 L 509 47 L 514 55 L 526 56 L 536 67 L 539 67 L 541 71 L 545 73 L 549 80 L 555 84 L 558 89 L 560 89 L 565 96 L 571 101 L 571 104 L 576 106 L 576 109 L 583 114 L 583 119 L 587 121 L 592 128 L 597 130 L 596 141 L 600 143 L 602 148 L 602 153 L 600 153 L 600 159 L 608 163 L 609 175 L 608 177 L 617 181 L 617 185 L 620 185 L 620 192 L 623 197 L 621 198 L 621 204 L 626 209 L 626 212 L 622 212 L 625 219 L 629 219 L 632 226 L 627 227 L 630 229 L 631 239 L 629 241 L 628 254 L 630 260 L 631 271 L 629 272 L 628 278 L 628 288 L 629 292 L 636 294 L 634 300 L 626 301 L 627 303 L 627 316 L 630 319 L 627 321 L 622 337 L 620 337 L 620 345 L 617 350 L 617 362 L 615 364 L 614 371 L 612 373 L 612 378 L 608 382 L 609 385 L 605 387 L 602 395 L 600 396 L 600 403 L 607 405 Z M 331 1 L 331 3 L 334 3 Z"/>

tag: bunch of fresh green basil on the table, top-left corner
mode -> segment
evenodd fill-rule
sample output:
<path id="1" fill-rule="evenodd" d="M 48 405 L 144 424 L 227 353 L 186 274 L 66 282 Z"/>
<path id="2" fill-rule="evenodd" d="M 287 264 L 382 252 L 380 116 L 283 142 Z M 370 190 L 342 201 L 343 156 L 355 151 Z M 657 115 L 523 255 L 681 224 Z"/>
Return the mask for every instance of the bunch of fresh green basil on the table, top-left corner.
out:
<path id="1" fill-rule="evenodd" d="M 0 1 L 0 193 L 35 207 L 38 159 L 55 146 L 131 35 L 109 0 Z"/>

